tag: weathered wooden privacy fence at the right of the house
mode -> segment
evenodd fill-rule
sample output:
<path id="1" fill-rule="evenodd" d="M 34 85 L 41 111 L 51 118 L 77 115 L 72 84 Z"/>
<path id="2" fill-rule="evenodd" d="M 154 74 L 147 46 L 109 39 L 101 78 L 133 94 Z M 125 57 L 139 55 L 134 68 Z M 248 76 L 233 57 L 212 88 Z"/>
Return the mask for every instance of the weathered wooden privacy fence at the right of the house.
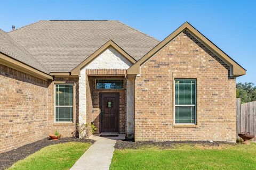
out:
<path id="1" fill-rule="evenodd" d="M 256 101 L 241 104 L 241 99 L 237 98 L 236 118 L 237 133 L 250 132 L 256 135 Z"/>

